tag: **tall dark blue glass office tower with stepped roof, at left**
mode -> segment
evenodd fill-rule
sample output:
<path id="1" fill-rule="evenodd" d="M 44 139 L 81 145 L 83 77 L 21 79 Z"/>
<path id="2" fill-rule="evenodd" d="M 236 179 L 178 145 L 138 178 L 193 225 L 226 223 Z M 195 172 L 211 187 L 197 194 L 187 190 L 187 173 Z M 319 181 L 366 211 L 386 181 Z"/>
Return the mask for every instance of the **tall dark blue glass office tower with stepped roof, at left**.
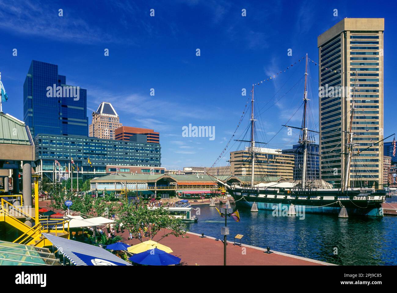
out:
<path id="1" fill-rule="evenodd" d="M 49 90 L 48 87 L 54 88 Z M 61 87 L 61 91 L 58 91 Z M 23 119 L 39 133 L 88 136 L 87 90 L 66 84 L 58 65 L 32 60 L 23 85 Z"/>

